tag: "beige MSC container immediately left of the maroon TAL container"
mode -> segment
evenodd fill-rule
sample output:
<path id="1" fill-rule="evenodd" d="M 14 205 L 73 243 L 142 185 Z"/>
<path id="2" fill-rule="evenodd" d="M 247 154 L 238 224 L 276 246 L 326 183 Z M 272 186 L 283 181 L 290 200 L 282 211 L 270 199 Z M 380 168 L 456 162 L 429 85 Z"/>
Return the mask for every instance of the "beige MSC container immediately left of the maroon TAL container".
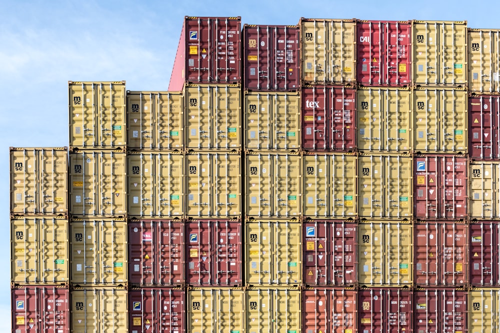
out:
<path id="1" fill-rule="evenodd" d="M 125 219 L 71 219 L 69 244 L 73 286 L 125 286 L 127 283 Z"/>

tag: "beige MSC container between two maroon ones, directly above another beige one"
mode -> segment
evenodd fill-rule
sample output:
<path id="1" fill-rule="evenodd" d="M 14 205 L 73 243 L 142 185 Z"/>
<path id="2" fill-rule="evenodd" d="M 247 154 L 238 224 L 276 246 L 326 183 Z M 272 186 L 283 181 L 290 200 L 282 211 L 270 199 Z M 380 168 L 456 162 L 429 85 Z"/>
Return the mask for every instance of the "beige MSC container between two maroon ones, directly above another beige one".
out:
<path id="1" fill-rule="evenodd" d="M 301 224 L 297 220 L 245 222 L 246 286 L 298 286 L 302 282 Z"/>

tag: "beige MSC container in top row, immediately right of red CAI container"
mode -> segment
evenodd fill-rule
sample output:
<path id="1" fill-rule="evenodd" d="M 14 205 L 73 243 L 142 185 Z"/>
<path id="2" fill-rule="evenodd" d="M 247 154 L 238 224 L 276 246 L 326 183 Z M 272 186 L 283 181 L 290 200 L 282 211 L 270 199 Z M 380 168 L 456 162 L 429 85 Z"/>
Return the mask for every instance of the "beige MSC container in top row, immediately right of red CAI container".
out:
<path id="1" fill-rule="evenodd" d="M 467 22 L 412 21 L 413 83 L 467 85 Z"/>

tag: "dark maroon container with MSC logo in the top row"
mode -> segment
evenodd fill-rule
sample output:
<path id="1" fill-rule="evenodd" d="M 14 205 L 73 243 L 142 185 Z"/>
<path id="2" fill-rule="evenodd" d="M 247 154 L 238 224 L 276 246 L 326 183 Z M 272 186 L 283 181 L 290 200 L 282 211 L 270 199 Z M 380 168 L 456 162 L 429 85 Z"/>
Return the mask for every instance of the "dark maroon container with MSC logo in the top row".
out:
<path id="1" fill-rule="evenodd" d="M 300 39 L 296 25 L 243 26 L 244 88 L 289 91 L 300 86 Z"/>

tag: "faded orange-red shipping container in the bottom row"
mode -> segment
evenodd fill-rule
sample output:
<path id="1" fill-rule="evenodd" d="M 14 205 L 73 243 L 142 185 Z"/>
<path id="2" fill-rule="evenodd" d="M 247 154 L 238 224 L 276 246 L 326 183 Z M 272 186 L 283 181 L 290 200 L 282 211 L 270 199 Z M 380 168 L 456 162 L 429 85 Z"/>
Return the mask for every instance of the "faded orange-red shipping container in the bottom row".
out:
<path id="1" fill-rule="evenodd" d="M 354 289 L 306 288 L 302 291 L 303 333 L 356 333 Z"/>

